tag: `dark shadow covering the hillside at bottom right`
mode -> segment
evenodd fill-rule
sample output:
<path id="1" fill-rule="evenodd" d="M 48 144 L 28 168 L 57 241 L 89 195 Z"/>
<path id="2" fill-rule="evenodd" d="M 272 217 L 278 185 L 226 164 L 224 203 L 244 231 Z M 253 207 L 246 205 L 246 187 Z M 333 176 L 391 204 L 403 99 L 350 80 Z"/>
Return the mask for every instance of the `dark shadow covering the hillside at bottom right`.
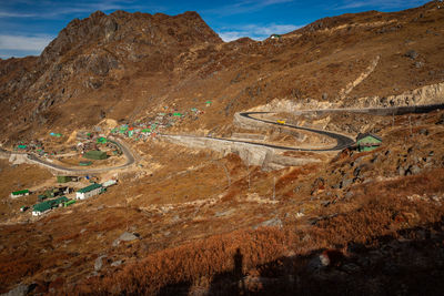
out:
<path id="1" fill-rule="evenodd" d="M 442 295 L 444 221 L 396 236 L 377 237 L 376 247 L 350 242 L 342 257 L 322 249 L 282 257 L 258 266 L 256 277 L 239 278 L 235 267 L 214 276 L 205 295 Z M 330 254 L 331 264 L 320 254 Z"/>

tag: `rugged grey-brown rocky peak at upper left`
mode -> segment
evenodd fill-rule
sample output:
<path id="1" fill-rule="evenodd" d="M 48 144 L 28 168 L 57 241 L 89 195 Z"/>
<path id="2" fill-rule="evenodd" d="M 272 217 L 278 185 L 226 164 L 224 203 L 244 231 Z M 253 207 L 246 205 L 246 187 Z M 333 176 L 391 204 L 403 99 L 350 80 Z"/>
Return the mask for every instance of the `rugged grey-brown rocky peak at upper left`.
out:
<path id="1" fill-rule="evenodd" d="M 172 71 L 182 52 L 218 43 L 222 40 L 195 12 L 97 11 L 72 20 L 40 57 L 0 61 L 1 109 L 22 124 L 44 124 L 52 106 L 138 72 Z"/>

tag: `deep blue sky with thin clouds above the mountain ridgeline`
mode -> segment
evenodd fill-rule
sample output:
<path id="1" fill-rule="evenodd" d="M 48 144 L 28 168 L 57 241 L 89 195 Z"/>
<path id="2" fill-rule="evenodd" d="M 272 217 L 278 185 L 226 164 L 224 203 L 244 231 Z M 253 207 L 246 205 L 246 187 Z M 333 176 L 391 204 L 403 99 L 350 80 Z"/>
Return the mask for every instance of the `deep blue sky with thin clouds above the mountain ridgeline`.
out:
<path id="1" fill-rule="evenodd" d="M 0 58 L 39 55 L 72 19 L 97 10 L 179 14 L 193 10 L 224 41 L 262 40 L 324 17 L 367 10 L 397 11 L 421 0 L 0 0 Z"/>

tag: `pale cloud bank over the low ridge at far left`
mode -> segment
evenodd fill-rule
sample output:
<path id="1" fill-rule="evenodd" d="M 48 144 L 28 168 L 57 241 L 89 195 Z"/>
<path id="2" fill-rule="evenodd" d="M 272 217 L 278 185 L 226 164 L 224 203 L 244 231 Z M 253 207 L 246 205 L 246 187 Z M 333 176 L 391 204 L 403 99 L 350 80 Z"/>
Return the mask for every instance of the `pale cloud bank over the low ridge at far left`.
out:
<path id="1" fill-rule="evenodd" d="M 51 41 L 49 35 L 0 34 L 0 50 L 22 50 L 41 52 Z"/>

